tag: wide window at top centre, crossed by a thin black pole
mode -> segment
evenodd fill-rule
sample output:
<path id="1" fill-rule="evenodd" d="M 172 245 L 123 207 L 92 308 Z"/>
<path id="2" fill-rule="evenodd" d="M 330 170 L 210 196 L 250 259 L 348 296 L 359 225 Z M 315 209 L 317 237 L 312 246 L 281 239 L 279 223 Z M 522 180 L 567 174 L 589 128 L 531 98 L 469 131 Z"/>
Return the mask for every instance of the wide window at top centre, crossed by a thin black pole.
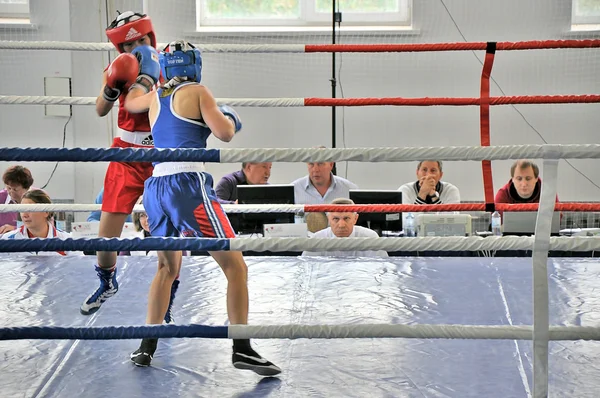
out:
<path id="1" fill-rule="evenodd" d="M 344 25 L 411 25 L 412 0 L 338 0 Z M 332 0 L 196 0 L 199 30 L 214 26 L 328 26 Z"/>

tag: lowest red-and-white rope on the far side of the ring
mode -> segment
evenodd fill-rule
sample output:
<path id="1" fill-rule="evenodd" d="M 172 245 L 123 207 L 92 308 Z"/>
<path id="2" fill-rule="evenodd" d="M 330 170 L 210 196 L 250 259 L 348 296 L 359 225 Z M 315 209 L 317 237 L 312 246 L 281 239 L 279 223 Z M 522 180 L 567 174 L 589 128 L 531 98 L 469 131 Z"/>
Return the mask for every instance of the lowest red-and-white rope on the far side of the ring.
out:
<path id="1" fill-rule="evenodd" d="M 426 212 L 450 212 L 450 211 L 479 211 L 485 212 L 485 203 L 457 203 L 441 205 L 414 205 L 414 204 L 362 204 L 362 205 L 286 205 L 286 204 L 252 204 L 252 205 L 221 205 L 226 213 L 323 213 L 323 212 L 341 212 L 341 213 L 426 213 Z M 507 212 L 531 212 L 537 211 L 538 203 L 498 203 L 494 210 Z M 68 204 L 68 203 L 33 203 L 33 204 L 14 204 L 0 205 L 0 213 L 18 213 L 18 212 L 74 212 L 86 213 L 102 210 L 100 204 Z M 146 210 L 143 205 L 135 205 L 134 213 L 143 213 Z M 568 212 L 600 212 L 600 203 L 581 203 L 581 202 L 561 202 L 554 205 L 554 211 Z"/>

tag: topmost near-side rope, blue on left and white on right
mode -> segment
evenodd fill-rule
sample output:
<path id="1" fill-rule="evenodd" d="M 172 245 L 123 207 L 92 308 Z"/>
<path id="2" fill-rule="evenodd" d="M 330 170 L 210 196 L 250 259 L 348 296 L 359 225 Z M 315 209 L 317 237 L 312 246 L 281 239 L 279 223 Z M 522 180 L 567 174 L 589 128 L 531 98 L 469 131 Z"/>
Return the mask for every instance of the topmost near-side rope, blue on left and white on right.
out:
<path id="1" fill-rule="evenodd" d="M 411 162 L 507 159 L 598 159 L 599 144 L 402 148 L 0 148 L 2 161 L 38 162 Z"/>

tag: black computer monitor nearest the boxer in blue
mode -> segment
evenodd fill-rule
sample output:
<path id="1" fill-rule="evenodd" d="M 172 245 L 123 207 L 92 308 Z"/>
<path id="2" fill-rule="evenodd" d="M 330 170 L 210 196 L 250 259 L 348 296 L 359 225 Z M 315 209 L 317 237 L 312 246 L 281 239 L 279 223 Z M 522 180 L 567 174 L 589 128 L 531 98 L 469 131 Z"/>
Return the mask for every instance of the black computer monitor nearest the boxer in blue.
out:
<path id="1" fill-rule="evenodd" d="M 294 204 L 294 186 L 291 184 L 238 185 L 238 204 Z M 234 216 L 231 214 L 230 216 Z M 262 233 L 264 224 L 293 223 L 294 213 L 242 213 L 230 217 L 238 233 Z M 234 221 L 235 220 L 235 221 Z M 237 224 L 237 225 L 234 225 Z"/>

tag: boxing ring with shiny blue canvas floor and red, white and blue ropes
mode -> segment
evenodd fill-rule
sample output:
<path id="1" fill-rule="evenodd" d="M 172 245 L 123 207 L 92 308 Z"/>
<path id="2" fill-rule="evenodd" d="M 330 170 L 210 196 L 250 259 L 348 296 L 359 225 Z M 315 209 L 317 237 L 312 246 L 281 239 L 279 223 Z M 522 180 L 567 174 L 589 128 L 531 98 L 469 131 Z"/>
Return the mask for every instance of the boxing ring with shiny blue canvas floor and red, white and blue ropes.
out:
<path id="1" fill-rule="evenodd" d="M 565 41 L 566 42 L 566 41 Z M 599 47 L 599 40 L 568 41 Z M 469 44 L 469 43 L 461 43 Z M 481 47 L 483 44 L 483 47 Z M 462 50 L 526 49 L 489 43 Z M 563 46 L 546 43 L 545 47 Z M 13 47 L 11 47 L 13 46 Z M 0 43 L 0 48 L 40 44 Z M 106 50 L 106 45 L 55 43 L 70 50 Z M 410 46 L 410 45 L 408 45 Z M 202 46 L 199 46 L 202 48 Z M 291 51 L 289 47 L 277 51 Z M 307 52 L 302 46 L 302 51 Z M 356 46 L 360 47 L 360 46 Z M 314 46 L 309 51 L 356 51 Z M 42 47 L 39 47 L 42 48 Z M 429 47 L 364 46 L 363 51 L 432 51 Z M 232 47 L 232 51 L 239 48 Z M 456 47 L 433 49 L 456 51 Z M 215 50 L 216 51 L 216 50 Z M 265 47 L 248 51 L 275 51 Z M 296 48 L 296 51 L 301 51 Z M 486 56 L 484 75 L 493 56 Z M 600 96 L 490 97 L 482 78 L 480 98 L 449 99 L 220 99 L 237 106 L 476 105 L 482 119 L 490 105 L 600 102 Z M 0 103 L 89 105 L 92 98 L 0 96 Z M 489 114 L 488 114 L 489 117 Z M 488 126 L 489 126 L 489 119 Z M 406 396 L 406 397 L 592 397 L 597 395 L 600 293 L 595 259 L 548 259 L 548 251 L 600 248 L 594 237 L 550 238 L 555 209 L 558 159 L 597 159 L 599 145 L 353 149 L 52 149 L 0 148 L 0 160 L 29 161 L 242 161 L 407 162 L 423 158 L 482 162 L 543 159 L 544 185 L 535 237 L 311 239 L 55 239 L 0 242 L 2 252 L 53 250 L 503 250 L 533 249 L 528 258 L 341 259 L 247 257 L 250 322 L 228 326 L 225 278 L 204 257 L 184 258 L 177 296 L 177 325 L 145 327 L 147 290 L 156 261 L 120 257 L 120 290 L 91 317 L 77 314 L 94 281 L 82 263 L 93 259 L 2 254 L 0 288 L 0 375 L 6 396 L 172 394 L 178 396 Z M 485 203 L 490 209 L 489 186 Z M 73 205 L 71 205 L 73 206 Z M 435 211 L 468 206 L 435 206 Z M 571 204 L 573 209 L 596 208 Z M 8 210 L 25 207 L 12 205 Z M 48 207 L 35 205 L 38 211 Z M 237 208 L 237 210 L 236 210 Z M 469 209 L 471 207 L 468 207 Z M 513 210 L 525 210 L 512 205 Z M 556 207 L 558 209 L 558 206 Z M 329 210 L 328 210 L 329 209 Z M 333 211 L 347 206 L 303 207 Z M 427 206 L 388 206 L 386 211 L 434 211 Z M 530 209 L 530 207 L 527 207 Z M 86 208 L 87 210 L 87 208 Z M 379 208 L 379 211 L 381 208 Z M 79 208 L 78 211 L 84 211 Z M 231 211 L 252 211 L 236 206 Z M 275 211 L 275 210 L 273 210 Z M 277 210 L 277 211 L 280 211 Z M 289 211 L 297 212 L 297 208 Z M 375 210 L 373 210 L 375 211 Z M 533 301 L 532 301 L 533 297 Z M 188 325 L 189 324 L 189 325 Z M 122 326 L 122 327 L 115 327 Z M 160 336 L 152 367 L 140 371 L 127 353 L 130 339 Z M 175 338 L 179 337 L 179 338 Z M 193 340 L 182 337 L 196 337 Z M 200 337 L 200 338 L 198 338 Z M 259 379 L 233 369 L 228 338 L 254 338 L 265 356 L 279 364 L 278 378 Z M 274 339 L 266 340 L 261 339 Z M 108 341 L 107 341 L 108 340 Z M 584 341 L 593 340 L 593 341 Z"/>

